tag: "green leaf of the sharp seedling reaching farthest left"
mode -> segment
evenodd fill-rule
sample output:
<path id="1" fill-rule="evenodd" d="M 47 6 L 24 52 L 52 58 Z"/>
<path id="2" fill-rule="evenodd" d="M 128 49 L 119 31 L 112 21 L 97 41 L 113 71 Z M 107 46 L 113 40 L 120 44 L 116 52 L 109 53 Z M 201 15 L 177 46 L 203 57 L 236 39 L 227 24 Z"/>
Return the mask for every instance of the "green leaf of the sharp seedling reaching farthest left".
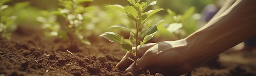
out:
<path id="1" fill-rule="evenodd" d="M 114 32 L 105 32 L 105 33 L 103 33 L 99 36 L 106 38 L 110 42 L 117 42 L 117 43 L 120 43 L 120 44 L 122 43 L 121 36 L 114 33 Z"/>

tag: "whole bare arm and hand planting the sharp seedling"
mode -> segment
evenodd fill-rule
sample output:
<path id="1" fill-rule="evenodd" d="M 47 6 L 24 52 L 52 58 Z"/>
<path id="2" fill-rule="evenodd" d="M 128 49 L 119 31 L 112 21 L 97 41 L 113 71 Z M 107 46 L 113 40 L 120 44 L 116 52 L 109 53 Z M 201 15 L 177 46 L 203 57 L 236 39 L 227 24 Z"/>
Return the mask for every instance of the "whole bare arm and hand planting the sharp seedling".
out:
<path id="1" fill-rule="evenodd" d="M 256 0 L 237 0 L 227 11 L 190 36 L 175 41 L 144 44 L 137 53 L 140 58 L 133 63 L 127 52 L 117 68 L 138 72 L 180 75 L 193 70 L 212 57 L 230 49 L 244 40 L 256 36 Z"/>

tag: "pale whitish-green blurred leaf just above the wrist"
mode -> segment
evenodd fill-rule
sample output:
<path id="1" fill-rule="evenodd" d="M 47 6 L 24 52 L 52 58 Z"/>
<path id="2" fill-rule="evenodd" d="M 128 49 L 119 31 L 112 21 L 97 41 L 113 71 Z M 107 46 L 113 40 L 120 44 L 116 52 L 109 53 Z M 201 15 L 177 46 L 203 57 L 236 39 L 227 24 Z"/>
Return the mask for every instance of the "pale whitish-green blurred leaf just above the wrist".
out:
<path id="1" fill-rule="evenodd" d="M 182 23 L 171 23 L 167 28 L 167 30 L 172 33 L 180 29 L 181 27 L 182 27 Z"/>

